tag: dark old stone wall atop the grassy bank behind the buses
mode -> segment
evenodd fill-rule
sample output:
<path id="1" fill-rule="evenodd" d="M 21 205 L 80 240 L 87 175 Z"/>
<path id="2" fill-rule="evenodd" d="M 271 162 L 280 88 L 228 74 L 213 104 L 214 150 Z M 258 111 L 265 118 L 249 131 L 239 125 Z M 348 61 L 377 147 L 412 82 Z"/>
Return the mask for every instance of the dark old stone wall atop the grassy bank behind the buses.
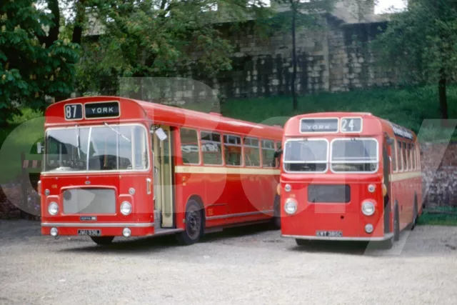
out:
<path id="1" fill-rule="evenodd" d="M 329 16 L 320 30 L 296 33 L 296 90 L 300 95 L 391 86 L 395 80 L 376 64 L 373 41 L 383 22 L 345 24 Z M 281 96 L 291 93 L 292 39 L 276 31 L 261 38 L 253 29 L 226 34 L 235 46 L 233 69 L 205 79 L 197 69 L 186 77 L 203 81 L 227 98 Z"/>

